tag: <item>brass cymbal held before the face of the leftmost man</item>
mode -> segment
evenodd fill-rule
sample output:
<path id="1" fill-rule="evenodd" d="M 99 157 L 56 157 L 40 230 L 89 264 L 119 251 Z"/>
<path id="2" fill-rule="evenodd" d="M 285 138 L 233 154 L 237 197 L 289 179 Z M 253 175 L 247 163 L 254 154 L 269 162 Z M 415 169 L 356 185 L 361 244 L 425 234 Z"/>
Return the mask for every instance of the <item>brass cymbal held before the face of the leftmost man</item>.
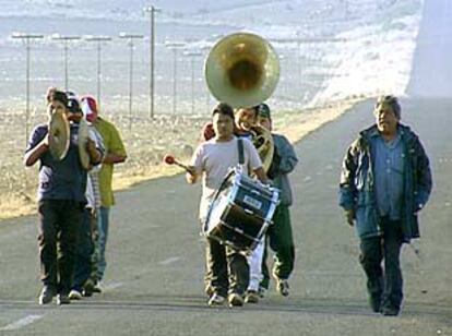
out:
<path id="1" fill-rule="evenodd" d="M 69 149 L 69 121 L 64 113 L 55 112 L 49 122 L 49 151 L 57 160 L 62 160 Z"/>

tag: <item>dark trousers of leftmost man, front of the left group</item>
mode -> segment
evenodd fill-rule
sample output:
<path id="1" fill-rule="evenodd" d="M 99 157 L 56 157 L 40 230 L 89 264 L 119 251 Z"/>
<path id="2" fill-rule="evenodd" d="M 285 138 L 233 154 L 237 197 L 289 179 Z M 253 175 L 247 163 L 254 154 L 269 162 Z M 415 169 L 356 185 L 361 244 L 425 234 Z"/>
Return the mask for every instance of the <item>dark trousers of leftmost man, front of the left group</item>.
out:
<path id="1" fill-rule="evenodd" d="M 74 201 L 44 200 L 38 205 L 40 279 L 61 293 L 72 287 L 82 212 L 83 205 Z"/>

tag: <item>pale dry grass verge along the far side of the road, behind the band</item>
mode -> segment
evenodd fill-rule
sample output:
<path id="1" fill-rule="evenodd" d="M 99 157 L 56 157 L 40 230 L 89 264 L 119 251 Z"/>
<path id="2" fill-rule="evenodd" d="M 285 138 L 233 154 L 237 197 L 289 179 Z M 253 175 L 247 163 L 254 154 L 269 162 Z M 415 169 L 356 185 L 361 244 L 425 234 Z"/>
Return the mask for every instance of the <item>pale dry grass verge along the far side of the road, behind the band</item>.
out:
<path id="1" fill-rule="evenodd" d="M 321 108 L 273 112 L 274 129 L 294 143 L 325 122 L 334 120 L 357 101 L 358 99 L 348 99 Z M 4 172 L 0 176 L 0 219 L 36 212 L 34 194 L 37 167 L 23 167 L 24 131 L 12 127 L 23 124 L 21 119 L 21 116 L 12 115 L 0 125 L 0 132 L 10 135 L 8 140 L 0 142 L 0 149 L 7 153 L 3 155 L 4 161 L 0 164 L 1 171 Z M 164 165 L 164 155 L 170 153 L 181 161 L 188 160 L 200 141 L 202 125 L 209 120 L 207 116 L 160 116 L 155 120 L 134 120 L 135 124 L 129 131 L 127 120 L 108 115 L 107 119 L 112 119 L 122 130 L 129 156 L 126 164 L 115 168 L 115 190 L 181 172 L 178 167 Z M 32 120 L 34 124 L 41 121 L 43 118 Z"/>

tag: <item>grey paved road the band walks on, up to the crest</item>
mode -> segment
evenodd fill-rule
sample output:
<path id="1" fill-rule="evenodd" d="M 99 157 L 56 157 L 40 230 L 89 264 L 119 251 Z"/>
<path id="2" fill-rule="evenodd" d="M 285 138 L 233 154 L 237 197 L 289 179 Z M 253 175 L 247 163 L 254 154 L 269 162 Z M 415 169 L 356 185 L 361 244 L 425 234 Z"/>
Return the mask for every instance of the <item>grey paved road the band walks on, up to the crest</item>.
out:
<path id="1" fill-rule="evenodd" d="M 200 189 L 181 176 L 118 193 L 105 293 L 58 308 L 37 302 L 35 216 L 0 223 L 1 335 L 452 335 L 452 101 L 403 101 L 403 119 L 428 151 L 435 191 L 421 214 L 423 239 L 403 250 L 406 300 L 399 317 L 367 307 L 357 239 L 336 205 L 338 168 L 369 103 L 297 144 L 292 295 L 274 288 L 257 305 L 206 305 Z"/>

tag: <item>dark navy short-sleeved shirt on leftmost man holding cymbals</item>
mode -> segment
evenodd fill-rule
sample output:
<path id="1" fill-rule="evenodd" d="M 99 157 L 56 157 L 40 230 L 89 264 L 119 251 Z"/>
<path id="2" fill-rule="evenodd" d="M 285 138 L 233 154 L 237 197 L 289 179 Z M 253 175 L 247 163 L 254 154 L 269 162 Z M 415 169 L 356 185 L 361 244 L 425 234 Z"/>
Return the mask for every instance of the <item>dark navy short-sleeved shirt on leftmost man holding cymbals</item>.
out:
<path id="1" fill-rule="evenodd" d="M 25 153 L 36 147 L 48 133 L 48 125 L 37 125 L 29 137 Z M 62 160 L 55 159 L 49 151 L 39 158 L 37 200 L 70 200 L 86 203 L 86 170 L 79 156 L 79 125 L 70 124 L 70 144 Z"/>

